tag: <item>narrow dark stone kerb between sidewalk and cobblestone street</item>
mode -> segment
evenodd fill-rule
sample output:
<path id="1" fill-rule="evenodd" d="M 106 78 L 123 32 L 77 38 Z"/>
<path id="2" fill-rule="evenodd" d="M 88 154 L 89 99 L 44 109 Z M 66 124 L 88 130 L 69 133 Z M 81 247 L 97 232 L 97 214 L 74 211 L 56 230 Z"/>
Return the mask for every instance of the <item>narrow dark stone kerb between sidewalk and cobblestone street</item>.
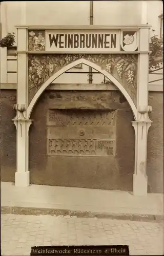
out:
<path id="1" fill-rule="evenodd" d="M 35 207 L 18 207 L 18 206 L 2 206 L 1 214 L 15 215 L 55 215 L 55 216 L 76 216 L 77 218 L 98 218 L 98 219 L 114 219 L 114 220 L 130 220 L 144 222 L 163 222 L 163 215 L 140 215 L 140 214 L 115 214 L 108 212 L 91 212 L 91 211 L 73 211 L 66 209 L 52 208 L 35 208 Z"/>

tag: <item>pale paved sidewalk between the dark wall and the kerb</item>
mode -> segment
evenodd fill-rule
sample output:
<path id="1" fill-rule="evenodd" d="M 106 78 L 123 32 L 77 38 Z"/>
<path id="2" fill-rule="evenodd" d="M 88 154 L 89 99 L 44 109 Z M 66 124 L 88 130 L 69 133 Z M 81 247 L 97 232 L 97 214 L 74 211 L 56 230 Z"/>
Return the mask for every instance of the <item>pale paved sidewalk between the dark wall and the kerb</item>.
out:
<path id="1" fill-rule="evenodd" d="M 69 212 L 88 212 L 90 217 L 94 213 L 113 215 L 163 215 L 163 194 L 148 194 L 146 197 L 136 197 L 132 193 L 117 190 L 99 190 L 72 187 L 54 187 L 44 185 L 30 185 L 29 187 L 15 187 L 13 183 L 1 182 L 1 206 L 3 213 L 20 213 L 12 211 L 12 207 L 29 208 L 25 214 L 37 214 L 36 209 L 56 209 L 59 214 L 68 215 Z M 25 209 L 24 208 L 24 209 Z M 6 212 L 5 212 L 6 209 Z M 47 211 L 47 212 L 48 212 Z M 49 211 L 50 212 L 50 211 Z M 52 211 L 52 215 L 56 214 Z M 38 214 L 44 214 L 40 210 Z M 93 215 L 92 215 L 93 214 Z M 97 215 L 95 215 L 97 216 Z M 79 215 L 79 217 L 82 217 Z M 85 217 L 85 215 L 83 216 Z"/>

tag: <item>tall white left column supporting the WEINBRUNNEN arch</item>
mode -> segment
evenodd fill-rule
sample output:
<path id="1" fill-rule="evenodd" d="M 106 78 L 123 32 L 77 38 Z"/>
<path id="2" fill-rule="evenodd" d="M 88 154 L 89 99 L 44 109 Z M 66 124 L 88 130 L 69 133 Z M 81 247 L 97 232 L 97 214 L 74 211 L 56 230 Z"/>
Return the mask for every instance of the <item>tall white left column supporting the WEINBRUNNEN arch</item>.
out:
<path id="1" fill-rule="evenodd" d="M 15 186 L 26 187 L 30 184 L 29 174 L 29 127 L 32 120 L 27 118 L 27 30 L 17 29 L 17 104 L 14 105 L 16 117 L 16 173 Z M 21 52 L 22 51 L 22 52 Z"/>

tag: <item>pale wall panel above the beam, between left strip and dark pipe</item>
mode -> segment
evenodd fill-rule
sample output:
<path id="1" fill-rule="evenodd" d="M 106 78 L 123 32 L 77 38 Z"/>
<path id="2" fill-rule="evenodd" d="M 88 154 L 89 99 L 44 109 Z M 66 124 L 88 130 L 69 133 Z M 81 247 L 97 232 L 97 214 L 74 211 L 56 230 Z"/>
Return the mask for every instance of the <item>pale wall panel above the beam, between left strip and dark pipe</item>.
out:
<path id="1" fill-rule="evenodd" d="M 29 25 L 89 25 L 90 2 L 28 2 L 26 13 Z"/>

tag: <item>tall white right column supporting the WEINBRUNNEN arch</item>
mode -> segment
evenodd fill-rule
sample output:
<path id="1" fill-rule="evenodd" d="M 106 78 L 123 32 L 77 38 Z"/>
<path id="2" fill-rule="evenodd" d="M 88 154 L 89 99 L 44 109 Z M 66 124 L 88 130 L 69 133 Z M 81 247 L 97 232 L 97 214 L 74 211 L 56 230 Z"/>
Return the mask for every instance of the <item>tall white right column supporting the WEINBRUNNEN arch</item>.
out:
<path id="1" fill-rule="evenodd" d="M 137 84 L 137 120 L 132 122 L 135 130 L 135 168 L 133 175 L 133 195 L 146 196 L 148 192 L 147 176 L 147 138 L 152 123 L 148 113 L 149 74 L 149 28 L 140 28 Z"/>

